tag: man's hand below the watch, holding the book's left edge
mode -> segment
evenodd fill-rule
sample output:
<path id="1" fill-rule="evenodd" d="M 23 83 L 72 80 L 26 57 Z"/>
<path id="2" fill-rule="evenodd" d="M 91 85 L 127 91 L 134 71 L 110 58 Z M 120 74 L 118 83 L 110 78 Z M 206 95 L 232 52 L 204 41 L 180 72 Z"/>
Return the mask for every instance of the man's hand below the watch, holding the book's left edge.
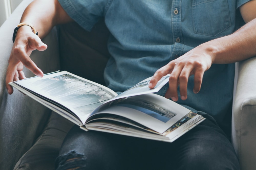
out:
<path id="1" fill-rule="evenodd" d="M 39 77 L 44 75 L 29 56 L 33 50 L 44 51 L 46 48 L 47 45 L 42 43 L 41 39 L 31 31 L 29 26 L 24 25 L 19 28 L 6 71 L 5 83 L 9 94 L 13 93 L 13 88 L 8 84 L 9 82 L 26 78 L 23 73 L 23 65 Z"/>

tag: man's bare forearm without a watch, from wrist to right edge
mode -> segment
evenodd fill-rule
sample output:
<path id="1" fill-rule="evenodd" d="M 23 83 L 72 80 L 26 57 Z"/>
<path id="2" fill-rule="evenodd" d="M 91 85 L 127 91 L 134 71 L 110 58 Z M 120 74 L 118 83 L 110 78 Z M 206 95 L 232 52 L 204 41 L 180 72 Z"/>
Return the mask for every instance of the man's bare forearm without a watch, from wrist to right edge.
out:
<path id="1" fill-rule="evenodd" d="M 212 55 L 212 63 L 234 63 L 256 56 L 256 19 L 225 37 L 200 45 Z"/>

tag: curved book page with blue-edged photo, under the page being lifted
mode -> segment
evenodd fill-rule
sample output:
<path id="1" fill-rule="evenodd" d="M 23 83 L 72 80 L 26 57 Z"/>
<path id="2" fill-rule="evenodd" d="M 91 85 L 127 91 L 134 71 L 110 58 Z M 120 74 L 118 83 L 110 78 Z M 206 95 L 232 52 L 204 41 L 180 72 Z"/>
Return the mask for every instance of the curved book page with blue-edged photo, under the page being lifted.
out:
<path id="1" fill-rule="evenodd" d="M 101 113 L 126 117 L 162 134 L 190 110 L 163 96 L 150 93 L 109 101 L 92 115 Z"/>

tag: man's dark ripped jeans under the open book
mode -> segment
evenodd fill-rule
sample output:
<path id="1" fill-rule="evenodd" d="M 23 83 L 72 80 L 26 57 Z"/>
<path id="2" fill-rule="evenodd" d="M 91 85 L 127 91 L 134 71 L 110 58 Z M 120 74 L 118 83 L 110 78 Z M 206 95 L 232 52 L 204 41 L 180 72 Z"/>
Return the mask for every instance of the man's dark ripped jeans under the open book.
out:
<path id="1" fill-rule="evenodd" d="M 206 120 L 172 143 L 74 126 L 62 144 L 56 169 L 240 169 L 224 132 L 211 116 L 198 113 Z"/>

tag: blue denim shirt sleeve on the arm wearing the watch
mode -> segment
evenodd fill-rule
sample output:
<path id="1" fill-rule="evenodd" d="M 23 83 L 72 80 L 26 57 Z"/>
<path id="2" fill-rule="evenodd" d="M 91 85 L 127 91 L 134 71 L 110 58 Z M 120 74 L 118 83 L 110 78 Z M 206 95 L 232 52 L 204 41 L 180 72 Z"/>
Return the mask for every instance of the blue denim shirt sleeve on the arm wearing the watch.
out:
<path id="1" fill-rule="evenodd" d="M 67 14 L 82 28 L 90 31 L 104 16 L 110 0 L 58 0 Z"/>

